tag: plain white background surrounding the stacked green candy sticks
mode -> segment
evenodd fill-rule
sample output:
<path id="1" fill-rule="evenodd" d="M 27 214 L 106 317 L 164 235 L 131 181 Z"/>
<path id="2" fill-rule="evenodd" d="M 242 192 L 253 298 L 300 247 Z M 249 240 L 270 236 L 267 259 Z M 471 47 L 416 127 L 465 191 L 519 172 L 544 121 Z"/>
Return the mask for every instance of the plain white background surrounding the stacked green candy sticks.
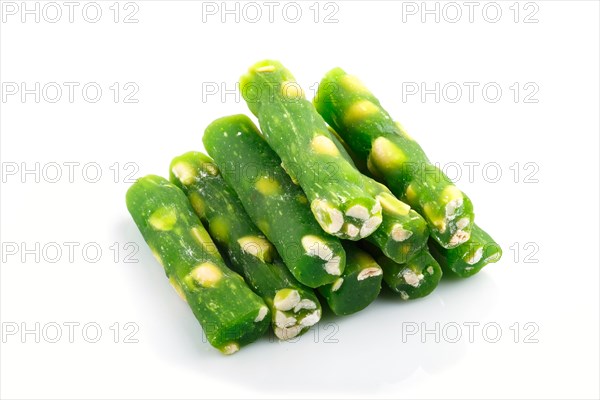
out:
<path id="1" fill-rule="evenodd" d="M 321 3 L 317 23 L 312 1 L 299 3 L 297 23 L 285 20 L 285 3 L 273 23 L 260 2 L 257 23 L 244 15 L 221 23 L 220 13 L 203 14 L 194 1 L 120 3 L 117 23 L 113 1 L 98 2 L 97 23 L 82 17 L 85 2 L 70 23 L 59 2 L 59 22 L 26 15 L 23 23 L 20 2 L 13 3 L 15 15 L 7 3 L 0 28 L 2 398 L 600 395 L 597 2 L 498 2 L 496 23 L 486 20 L 495 18 L 494 5 L 482 15 L 485 2 L 473 22 L 468 7 L 454 3 L 462 12 L 456 23 L 449 21 L 456 7 L 446 3 L 438 3 L 439 22 L 435 15 L 421 21 L 420 2 L 342 1 L 327 9 Z M 133 11 L 138 22 L 124 23 Z M 324 23 L 333 11 L 337 22 Z M 54 18 L 55 10 L 46 12 Z M 254 10 L 246 12 L 254 18 Z M 537 22 L 525 23 L 531 13 L 528 20 Z M 233 90 L 262 58 L 281 60 L 309 96 L 335 66 L 361 77 L 432 160 L 461 167 L 458 184 L 472 198 L 478 223 L 502 245 L 502 261 L 468 280 L 444 280 L 425 299 L 384 296 L 362 313 L 326 316 L 297 343 L 265 338 L 231 357 L 212 349 L 127 213 L 126 175 L 166 175 L 174 156 L 203 150 L 210 121 L 247 113 L 235 94 L 221 99 L 221 90 L 206 89 L 222 83 Z M 72 103 L 66 86 L 56 103 L 48 101 L 51 91 L 36 103 L 34 94 L 22 99 L 20 88 L 9 94 L 22 82 L 29 89 L 36 82 L 79 86 Z M 96 103 L 82 97 L 89 82 L 103 90 Z M 117 103 L 109 88 L 115 82 Z M 128 82 L 133 86 L 125 90 Z M 407 95 L 421 82 L 430 89 L 439 82 L 447 92 L 439 102 L 433 94 Z M 479 85 L 472 102 L 464 82 Z M 492 89 L 483 96 L 486 84 L 502 89 L 497 102 Z M 136 85 L 138 102 L 125 103 Z M 462 98 L 452 102 L 456 85 Z M 79 163 L 73 179 L 65 162 Z M 465 164 L 471 162 L 480 163 L 472 179 Z M 39 176 L 22 174 L 36 163 Z M 57 164 L 62 175 L 52 183 Z M 95 167 L 102 176 L 88 182 Z M 65 242 L 77 243 L 73 259 Z M 126 263 L 130 243 L 139 251 Z M 57 248 L 62 256 L 52 262 Z M 102 255 L 92 262 L 96 248 Z M 72 340 L 70 322 L 80 324 Z M 39 343 L 34 333 L 21 335 L 36 323 Z M 84 335 L 88 323 L 97 325 Z M 407 334 L 415 327 L 435 331 L 436 323 L 439 343 L 433 333 Z M 472 340 L 469 323 L 479 324 Z M 51 343 L 57 325 L 62 336 Z M 89 343 L 94 326 L 102 336 Z M 462 337 L 451 343 L 457 326 Z M 501 337 L 492 343 L 496 327 Z"/>

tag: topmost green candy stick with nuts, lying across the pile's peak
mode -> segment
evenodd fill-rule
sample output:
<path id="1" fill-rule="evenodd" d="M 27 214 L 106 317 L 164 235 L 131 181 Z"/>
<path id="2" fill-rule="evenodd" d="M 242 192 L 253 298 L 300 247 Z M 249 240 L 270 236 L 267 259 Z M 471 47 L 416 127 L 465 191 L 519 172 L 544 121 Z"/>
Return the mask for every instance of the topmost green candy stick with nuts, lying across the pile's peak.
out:
<path id="1" fill-rule="evenodd" d="M 261 61 L 241 78 L 240 90 L 323 230 L 349 240 L 373 233 L 381 223 L 379 202 L 292 74 L 277 61 Z"/>

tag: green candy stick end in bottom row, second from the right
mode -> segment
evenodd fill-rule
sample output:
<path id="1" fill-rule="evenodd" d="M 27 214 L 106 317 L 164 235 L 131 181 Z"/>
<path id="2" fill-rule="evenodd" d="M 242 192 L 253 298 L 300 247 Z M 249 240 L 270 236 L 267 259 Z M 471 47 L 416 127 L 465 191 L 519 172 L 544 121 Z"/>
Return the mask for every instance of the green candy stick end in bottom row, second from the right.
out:
<path id="1" fill-rule="evenodd" d="M 383 269 L 383 281 L 394 292 L 400 294 L 402 300 L 425 297 L 437 287 L 442 278 L 442 269 L 431 256 L 427 246 L 404 264 L 399 264 L 372 245 L 365 246 Z"/>

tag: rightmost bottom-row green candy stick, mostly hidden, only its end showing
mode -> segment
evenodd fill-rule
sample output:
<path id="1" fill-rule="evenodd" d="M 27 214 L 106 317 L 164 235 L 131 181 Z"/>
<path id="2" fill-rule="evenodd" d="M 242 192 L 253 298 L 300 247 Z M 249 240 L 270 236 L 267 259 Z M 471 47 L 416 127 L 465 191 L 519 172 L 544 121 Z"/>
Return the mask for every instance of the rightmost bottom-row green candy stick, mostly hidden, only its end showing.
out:
<path id="1" fill-rule="evenodd" d="M 488 264 L 502 257 L 500 245 L 477 224 L 473 225 L 469 241 L 453 249 L 444 249 L 437 242 L 430 241 L 429 249 L 440 263 L 444 272 L 467 278 L 475 275 Z"/>

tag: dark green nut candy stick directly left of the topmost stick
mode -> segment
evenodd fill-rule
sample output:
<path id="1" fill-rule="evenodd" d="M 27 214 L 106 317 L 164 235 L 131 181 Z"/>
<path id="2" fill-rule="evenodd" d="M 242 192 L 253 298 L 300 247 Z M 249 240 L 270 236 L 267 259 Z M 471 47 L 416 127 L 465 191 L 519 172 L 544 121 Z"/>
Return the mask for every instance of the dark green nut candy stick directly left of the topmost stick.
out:
<path id="1" fill-rule="evenodd" d="M 214 121 L 206 128 L 204 146 L 298 281 L 315 288 L 342 275 L 346 254 L 339 239 L 323 232 L 306 196 L 248 117 Z"/>

